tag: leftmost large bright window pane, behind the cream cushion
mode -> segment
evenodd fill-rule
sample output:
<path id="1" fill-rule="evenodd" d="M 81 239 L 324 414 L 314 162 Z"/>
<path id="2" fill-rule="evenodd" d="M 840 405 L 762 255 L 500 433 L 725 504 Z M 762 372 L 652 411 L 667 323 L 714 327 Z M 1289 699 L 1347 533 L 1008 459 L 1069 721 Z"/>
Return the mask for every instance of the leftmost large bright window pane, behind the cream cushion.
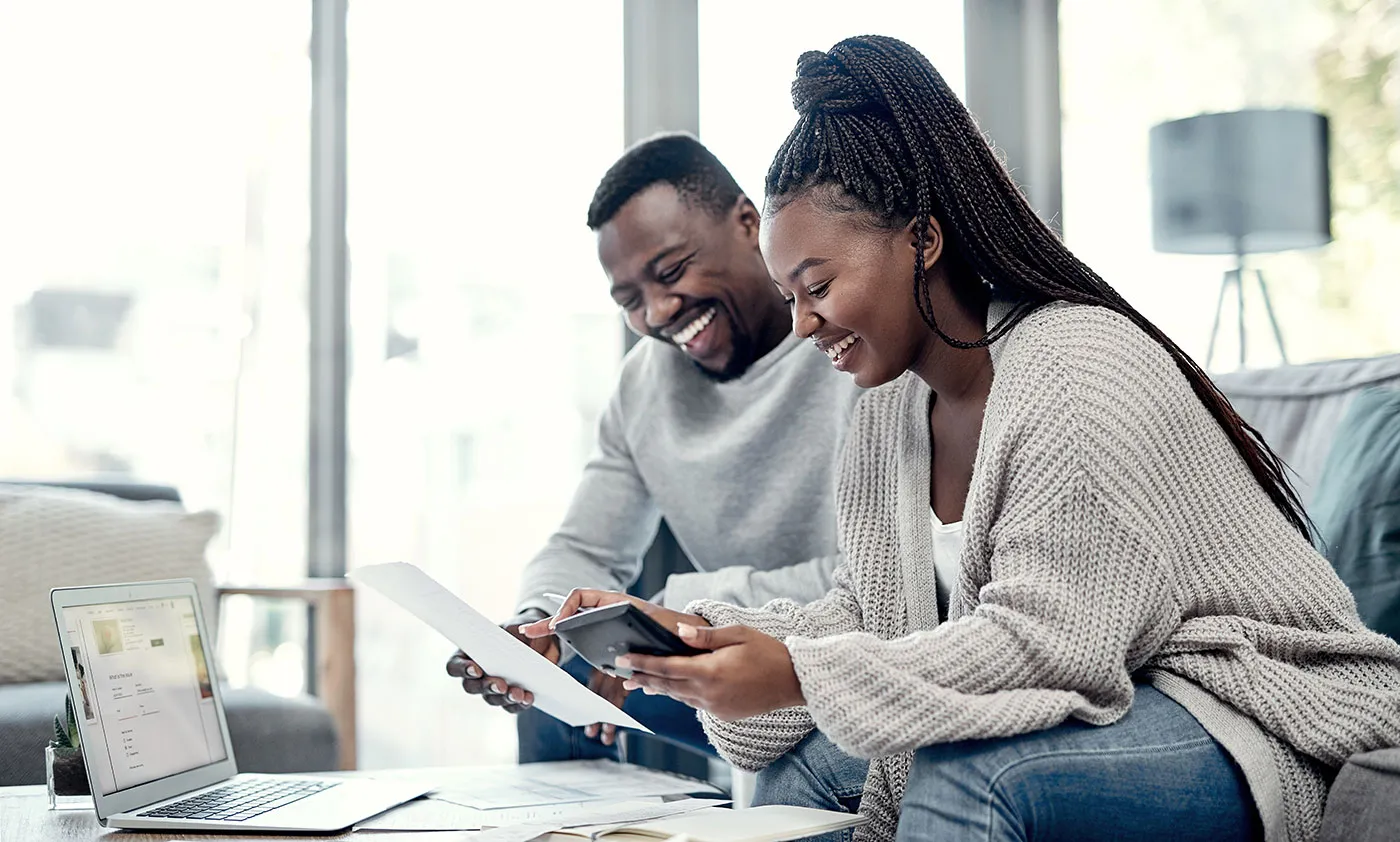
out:
<path id="1" fill-rule="evenodd" d="M 0 6 L 0 476 L 214 509 L 223 579 L 305 570 L 309 13 Z M 235 684 L 300 642 L 230 605 Z"/>

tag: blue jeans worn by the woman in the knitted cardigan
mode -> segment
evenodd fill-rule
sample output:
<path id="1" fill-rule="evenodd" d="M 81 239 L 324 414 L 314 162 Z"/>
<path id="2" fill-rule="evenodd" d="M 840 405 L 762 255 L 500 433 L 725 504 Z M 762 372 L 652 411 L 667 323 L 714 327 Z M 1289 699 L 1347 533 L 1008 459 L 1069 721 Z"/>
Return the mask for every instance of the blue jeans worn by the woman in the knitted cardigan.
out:
<path id="1" fill-rule="evenodd" d="M 841 804 L 861 761 L 840 759 L 830 741 L 816 737 L 759 775 L 764 803 L 819 807 L 834 794 Z M 822 787 L 815 799 L 776 790 L 799 780 L 795 766 Z M 766 785 L 764 776 L 773 780 Z M 1147 685 L 1135 688 L 1131 710 L 1112 726 L 1070 720 L 1032 734 L 918 750 L 899 821 L 900 842 L 1261 838 L 1239 766 L 1184 708 Z"/>

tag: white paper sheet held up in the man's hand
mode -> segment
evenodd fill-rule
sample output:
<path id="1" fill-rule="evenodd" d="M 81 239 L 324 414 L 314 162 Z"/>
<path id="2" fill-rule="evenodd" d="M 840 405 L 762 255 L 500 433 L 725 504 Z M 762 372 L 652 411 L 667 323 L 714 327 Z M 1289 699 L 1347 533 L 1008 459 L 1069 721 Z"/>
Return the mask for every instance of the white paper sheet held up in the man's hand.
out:
<path id="1" fill-rule="evenodd" d="M 349 577 L 389 597 L 409 614 L 441 632 L 462 651 L 470 654 L 487 675 L 504 678 L 512 686 L 522 686 L 535 693 L 535 708 L 554 719 L 571 726 L 602 722 L 651 733 L 647 726 L 578 684 L 573 675 L 482 616 L 413 565 L 402 562 L 374 565 L 351 570 Z"/>

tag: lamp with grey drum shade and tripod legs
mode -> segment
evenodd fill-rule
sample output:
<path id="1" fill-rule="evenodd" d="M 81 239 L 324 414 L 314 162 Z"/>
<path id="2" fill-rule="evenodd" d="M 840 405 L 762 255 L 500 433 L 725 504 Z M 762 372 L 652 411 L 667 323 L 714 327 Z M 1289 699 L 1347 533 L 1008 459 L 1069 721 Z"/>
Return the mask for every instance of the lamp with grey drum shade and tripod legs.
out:
<path id="1" fill-rule="evenodd" d="M 1233 289 L 1239 308 L 1239 366 L 1245 367 L 1245 280 L 1253 276 L 1284 363 L 1284 333 L 1268 283 L 1247 255 L 1331 242 L 1327 118 L 1298 109 L 1247 109 L 1170 120 L 1149 133 L 1152 248 L 1235 255 L 1215 300 L 1205 368 L 1215 356 L 1221 308 Z"/>

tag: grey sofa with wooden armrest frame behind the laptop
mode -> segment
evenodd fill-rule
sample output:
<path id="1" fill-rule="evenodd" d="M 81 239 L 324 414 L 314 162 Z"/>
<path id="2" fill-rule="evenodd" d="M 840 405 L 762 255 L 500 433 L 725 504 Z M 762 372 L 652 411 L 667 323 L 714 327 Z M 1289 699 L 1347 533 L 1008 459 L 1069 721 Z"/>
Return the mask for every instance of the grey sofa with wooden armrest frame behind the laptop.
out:
<path id="1" fill-rule="evenodd" d="M 49 493 L 50 483 L 3 482 L 13 503 L 15 495 Z M 153 506 L 179 503 L 172 488 L 150 485 L 57 483 L 64 489 L 83 489 L 132 502 L 157 502 Z M 20 489 L 20 490 L 17 490 Z M 60 489 L 62 490 L 62 489 Z M 11 527 L 13 528 L 13 527 Z M 20 546 L 0 535 L 0 581 L 10 581 L 17 566 L 31 563 L 15 558 Z M 202 544 L 200 544 L 202 549 Z M 200 559 L 202 562 L 202 553 Z M 179 574 L 175 572 L 169 576 Z M 62 573 L 41 573 L 41 579 Z M 31 579 L 32 579 L 31 573 Z M 164 576 L 161 576 L 164 577 Z M 64 581 L 67 584 L 67 581 Z M 316 698 L 283 698 L 258 688 L 231 688 L 221 684 L 230 737 L 239 771 L 245 772 L 314 772 L 353 769 L 354 744 L 354 601 L 344 580 L 307 581 L 293 587 L 216 586 L 209 602 L 216 607 L 224 597 L 242 594 L 253 598 L 295 598 L 314 612 L 316 663 L 311 686 Z M 0 609 L 17 597 L 0 591 Z M 210 607 L 206 604 L 206 615 Z M 214 621 L 210 621 L 214 626 Z M 52 628 L 52 626 L 50 626 Z M 55 657 L 57 651 L 55 647 Z M 11 664 L 11 667 L 14 667 Z M 11 670 L 13 671 L 13 670 Z M 53 717 L 63 710 L 67 685 L 63 681 L 13 681 L 0 684 L 0 786 L 43 783 L 43 747 L 53 731 Z"/>

